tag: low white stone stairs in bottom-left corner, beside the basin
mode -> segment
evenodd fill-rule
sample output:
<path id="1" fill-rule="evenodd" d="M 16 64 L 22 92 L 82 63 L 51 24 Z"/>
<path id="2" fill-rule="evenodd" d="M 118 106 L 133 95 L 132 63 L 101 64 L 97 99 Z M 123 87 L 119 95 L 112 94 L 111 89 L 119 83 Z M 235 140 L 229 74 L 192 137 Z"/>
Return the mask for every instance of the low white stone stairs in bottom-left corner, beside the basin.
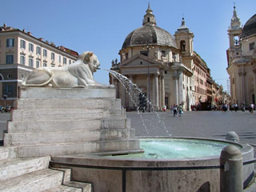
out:
<path id="1" fill-rule="evenodd" d="M 2 154 L 0 153 L 2 157 Z M 71 182 L 69 169 L 49 169 L 50 156 L 42 158 L 2 159 L 1 192 L 91 192 L 90 183 Z"/>

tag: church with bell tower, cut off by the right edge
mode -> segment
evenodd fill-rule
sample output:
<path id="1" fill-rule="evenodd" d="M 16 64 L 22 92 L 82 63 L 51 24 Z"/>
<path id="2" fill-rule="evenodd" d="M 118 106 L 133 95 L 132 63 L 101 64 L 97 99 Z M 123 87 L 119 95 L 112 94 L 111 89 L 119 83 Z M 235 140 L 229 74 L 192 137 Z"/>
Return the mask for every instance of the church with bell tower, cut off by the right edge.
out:
<path id="1" fill-rule="evenodd" d="M 228 35 L 226 70 L 230 75 L 230 102 L 248 106 L 255 103 L 256 95 L 256 14 L 242 27 L 234 6 Z"/>

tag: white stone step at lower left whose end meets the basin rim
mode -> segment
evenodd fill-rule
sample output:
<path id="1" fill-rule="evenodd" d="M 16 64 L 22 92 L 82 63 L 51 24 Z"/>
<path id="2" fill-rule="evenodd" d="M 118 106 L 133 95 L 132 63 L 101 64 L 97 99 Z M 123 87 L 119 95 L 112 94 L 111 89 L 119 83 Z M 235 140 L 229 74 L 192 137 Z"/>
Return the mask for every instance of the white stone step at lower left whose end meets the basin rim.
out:
<path id="1" fill-rule="evenodd" d="M 9 178 L 16 178 L 22 174 L 29 174 L 49 166 L 50 157 L 42 158 L 14 158 L 0 162 L 0 182 Z"/>

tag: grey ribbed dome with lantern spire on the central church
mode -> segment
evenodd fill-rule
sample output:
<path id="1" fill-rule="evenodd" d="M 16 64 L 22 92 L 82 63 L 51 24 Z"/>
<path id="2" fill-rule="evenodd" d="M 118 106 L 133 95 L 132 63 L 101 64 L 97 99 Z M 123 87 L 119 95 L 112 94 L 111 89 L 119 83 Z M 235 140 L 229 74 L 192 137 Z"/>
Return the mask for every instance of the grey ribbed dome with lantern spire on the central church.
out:
<path id="1" fill-rule="evenodd" d="M 129 46 L 146 46 L 146 45 L 157 45 L 157 46 L 172 46 L 177 48 L 176 42 L 172 35 L 156 26 L 154 14 L 152 14 L 150 5 L 146 10 L 146 14 L 143 19 L 143 26 L 136 30 L 133 30 L 126 37 L 125 42 L 122 44 L 122 49 Z"/>

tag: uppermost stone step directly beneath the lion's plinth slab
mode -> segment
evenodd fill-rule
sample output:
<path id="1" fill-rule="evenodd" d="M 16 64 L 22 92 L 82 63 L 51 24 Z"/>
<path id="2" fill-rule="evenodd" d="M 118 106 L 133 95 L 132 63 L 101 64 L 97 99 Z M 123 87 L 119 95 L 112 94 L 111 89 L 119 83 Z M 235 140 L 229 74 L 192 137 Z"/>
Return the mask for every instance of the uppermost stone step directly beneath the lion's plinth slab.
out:
<path id="1" fill-rule="evenodd" d="M 87 109 L 121 109 L 119 98 L 45 98 L 45 99 L 27 99 L 17 100 L 16 109 L 18 110 L 39 110 L 39 109 L 66 109 L 75 110 L 79 108 Z"/>

